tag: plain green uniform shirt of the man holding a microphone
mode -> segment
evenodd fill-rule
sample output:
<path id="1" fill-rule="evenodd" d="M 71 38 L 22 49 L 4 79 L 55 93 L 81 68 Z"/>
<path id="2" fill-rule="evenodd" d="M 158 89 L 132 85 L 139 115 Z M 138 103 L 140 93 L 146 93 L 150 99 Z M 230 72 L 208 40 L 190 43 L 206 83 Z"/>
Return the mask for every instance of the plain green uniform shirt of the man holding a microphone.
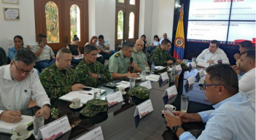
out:
<path id="1" fill-rule="evenodd" d="M 126 74 L 128 67 L 130 67 L 130 58 L 124 58 L 122 50 L 115 52 L 115 54 L 109 58 L 109 72 Z"/>

